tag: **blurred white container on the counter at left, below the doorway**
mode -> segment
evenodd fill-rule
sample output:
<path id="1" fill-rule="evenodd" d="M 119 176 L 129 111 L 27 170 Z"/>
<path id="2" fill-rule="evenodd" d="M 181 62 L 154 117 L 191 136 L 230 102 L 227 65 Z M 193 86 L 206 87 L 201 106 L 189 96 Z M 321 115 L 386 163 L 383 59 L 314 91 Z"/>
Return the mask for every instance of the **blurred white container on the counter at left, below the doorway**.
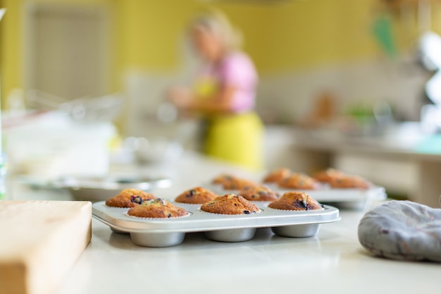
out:
<path id="1" fill-rule="evenodd" d="M 6 156 L 13 173 L 39 178 L 108 173 L 112 123 L 78 123 L 65 114 L 44 114 L 7 128 Z"/>

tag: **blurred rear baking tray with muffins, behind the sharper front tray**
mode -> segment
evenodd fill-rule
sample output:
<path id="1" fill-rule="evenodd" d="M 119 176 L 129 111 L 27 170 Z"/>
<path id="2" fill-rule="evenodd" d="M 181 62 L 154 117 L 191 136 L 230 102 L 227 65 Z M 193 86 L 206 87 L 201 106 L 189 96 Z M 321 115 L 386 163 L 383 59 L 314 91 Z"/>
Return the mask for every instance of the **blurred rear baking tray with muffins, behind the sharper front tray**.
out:
<path id="1" fill-rule="evenodd" d="M 266 187 L 283 194 L 304 191 L 321 203 L 341 209 L 365 209 L 372 201 L 385 200 L 385 188 L 368 182 L 360 176 L 349 175 L 328 168 L 311 175 L 296 173 L 285 167 L 268 171 L 260 180 L 249 180 L 229 173 L 216 176 L 208 187 L 218 193 L 242 195 L 249 187 Z"/>

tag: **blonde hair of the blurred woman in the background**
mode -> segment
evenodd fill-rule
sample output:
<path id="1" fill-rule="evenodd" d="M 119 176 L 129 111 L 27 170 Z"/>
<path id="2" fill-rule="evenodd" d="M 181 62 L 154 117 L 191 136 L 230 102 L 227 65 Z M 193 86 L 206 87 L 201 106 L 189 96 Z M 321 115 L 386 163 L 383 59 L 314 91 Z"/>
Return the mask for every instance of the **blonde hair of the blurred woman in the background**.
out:
<path id="1" fill-rule="evenodd" d="M 242 47 L 242 34 L 233 27 L 227 16 L 218 9 L 209 8 L 199 13 L 192 21 L 190 28 L 203 28 L 219 37 L 225 49 L 233 51 Z"/>

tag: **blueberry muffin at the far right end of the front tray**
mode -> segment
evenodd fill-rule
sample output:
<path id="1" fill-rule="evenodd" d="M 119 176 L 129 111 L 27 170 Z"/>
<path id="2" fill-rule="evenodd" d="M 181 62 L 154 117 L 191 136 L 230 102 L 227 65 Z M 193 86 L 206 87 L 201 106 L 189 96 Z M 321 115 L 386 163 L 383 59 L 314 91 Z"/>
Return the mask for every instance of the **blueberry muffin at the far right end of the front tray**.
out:
<path id="1" fill-rule="evenodd" d="M 280 199 L 271 202 L 268 204 L 268 207 L 273 209 L 298 211 L 318 210 L 323 208 L 317 200 L 313 199 L 305 192 L 294 191 L 283 193 Z"/>

